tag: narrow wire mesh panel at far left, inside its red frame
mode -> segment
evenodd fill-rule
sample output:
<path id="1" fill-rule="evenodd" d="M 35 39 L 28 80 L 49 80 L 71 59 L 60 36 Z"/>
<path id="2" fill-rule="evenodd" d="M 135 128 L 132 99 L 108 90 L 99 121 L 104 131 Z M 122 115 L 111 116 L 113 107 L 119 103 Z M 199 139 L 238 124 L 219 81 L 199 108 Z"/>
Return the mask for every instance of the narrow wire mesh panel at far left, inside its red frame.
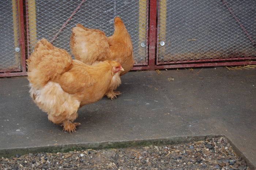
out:
<path id="1" fill-rule="evenodd" d="M 17 1 L 1 0 L 0 16 L 0 72 L 21 69 Z"/>

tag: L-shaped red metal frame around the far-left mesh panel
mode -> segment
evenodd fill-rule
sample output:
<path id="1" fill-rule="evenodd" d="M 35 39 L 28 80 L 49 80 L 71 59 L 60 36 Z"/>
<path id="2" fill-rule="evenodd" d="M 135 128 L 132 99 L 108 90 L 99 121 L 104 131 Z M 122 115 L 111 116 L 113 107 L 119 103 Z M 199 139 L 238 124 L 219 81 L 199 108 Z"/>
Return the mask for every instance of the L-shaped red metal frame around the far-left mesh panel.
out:
<path id="1" fill-rule="evenodd" d="M 13 70 L 1 70 L 0 77 L 11 77 L 11 76 L 26 76 L 26 57 L 25 57 L 25 35 L 24 35 L 24 20 L 23 20 L 23 1 L 17 0 L 17 7 L 19 3 L 19 44 L 21 46 L 21 67 L 22 69 L 13 69 Z"/>

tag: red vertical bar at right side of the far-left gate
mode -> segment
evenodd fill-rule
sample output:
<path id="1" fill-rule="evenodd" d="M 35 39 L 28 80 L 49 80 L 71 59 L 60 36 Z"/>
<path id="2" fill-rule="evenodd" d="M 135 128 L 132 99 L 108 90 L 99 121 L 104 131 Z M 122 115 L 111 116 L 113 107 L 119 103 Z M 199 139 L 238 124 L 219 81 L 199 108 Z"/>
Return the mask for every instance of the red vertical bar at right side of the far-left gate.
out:
<path id="1" fill-rule="evenodd" d="M 24 34 L 24 15 L 23 15 L 23 0 L 19 0 L 19 16 L 20 16 L 20 39 L 21 46 L 21 61 L 22 72 L 26 73 L 26 56 L 25 56 L 25 34 Z"/>

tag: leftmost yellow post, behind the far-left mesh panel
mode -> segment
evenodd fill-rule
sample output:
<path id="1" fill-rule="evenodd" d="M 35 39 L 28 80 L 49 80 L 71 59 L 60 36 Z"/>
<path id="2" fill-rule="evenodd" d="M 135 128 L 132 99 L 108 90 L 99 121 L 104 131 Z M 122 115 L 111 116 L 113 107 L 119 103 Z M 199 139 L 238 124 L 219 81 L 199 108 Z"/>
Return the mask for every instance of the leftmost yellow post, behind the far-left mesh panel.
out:
<path id="1" fill-rule="evenodd" d="M 19 19 L 18 19 L 18 3 L 16 0 L 12 0 L 12 22 L 13 22 L 13 32 L 14 32 L 14 48 L 20 48 L 19 46 Z M 15 50 L 15 49 L 14 49 Z M 15 64 L 14 68 L 17 68 L 19 65 L 19 52 L 15 52 Z"/>

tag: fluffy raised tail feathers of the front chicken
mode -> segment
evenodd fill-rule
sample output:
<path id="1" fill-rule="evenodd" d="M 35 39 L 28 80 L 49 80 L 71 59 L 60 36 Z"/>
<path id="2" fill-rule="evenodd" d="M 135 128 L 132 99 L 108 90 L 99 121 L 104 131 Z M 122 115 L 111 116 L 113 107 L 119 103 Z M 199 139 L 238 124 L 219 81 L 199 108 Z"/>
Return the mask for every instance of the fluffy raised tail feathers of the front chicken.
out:
<path id="1" fill-rule="evenodd" d="M 67 71 L 72 63 L 71 55 L 54 47 L 45 38 L 39 40 L 27 61 L 30 84 L 39 89 L 56 76 Z"/>

